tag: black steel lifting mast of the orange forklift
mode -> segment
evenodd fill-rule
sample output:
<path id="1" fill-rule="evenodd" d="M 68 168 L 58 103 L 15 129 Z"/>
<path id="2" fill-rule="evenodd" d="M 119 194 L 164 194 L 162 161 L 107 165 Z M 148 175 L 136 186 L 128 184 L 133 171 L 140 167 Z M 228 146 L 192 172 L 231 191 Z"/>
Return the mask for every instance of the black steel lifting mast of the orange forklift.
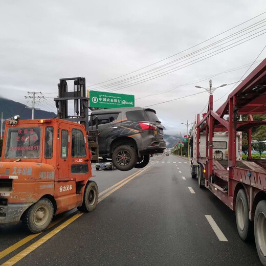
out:
<path id="1" fill-rule="evenodd" d="M 74 81 L 73 91 L 68 89 L 68 81 Z M 74 100 L 74 116 L 68 113 L 69 100 Z M 69 120 L 72 122 L 84 125 L 85 130 L 88 131 L 88 144 L 92 152 L 92 162 L 97 162 L 99 159 L 99 145 L 98 145 L 98 119 L 96 117 L 95 129 L 93 125 L 90 126 L 88 115 L 90 107 L 89 98 L 86 97 L 86 81 L 85 78 L 61 78 L 58 83 L 58 98 L 54 98 L 57 108 L 57 117 L 60 119 Z"/>

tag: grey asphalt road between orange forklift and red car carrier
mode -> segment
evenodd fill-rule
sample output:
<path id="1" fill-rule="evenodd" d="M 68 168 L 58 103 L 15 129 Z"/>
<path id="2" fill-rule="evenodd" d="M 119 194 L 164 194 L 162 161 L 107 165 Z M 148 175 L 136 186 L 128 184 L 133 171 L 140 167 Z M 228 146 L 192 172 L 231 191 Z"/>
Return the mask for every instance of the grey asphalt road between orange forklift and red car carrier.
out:
<path id="1" fill-rule="evenodd" d="M 260 265 L 255 243 L 238 237 L 234 212 L 198 188 L 186 160 L 151 161 L 127 172 L 94 171 L 97 209 L 57 216 L 57 225 L 28 242 L 21 225 L 0 228 L 0 264 Z"/>

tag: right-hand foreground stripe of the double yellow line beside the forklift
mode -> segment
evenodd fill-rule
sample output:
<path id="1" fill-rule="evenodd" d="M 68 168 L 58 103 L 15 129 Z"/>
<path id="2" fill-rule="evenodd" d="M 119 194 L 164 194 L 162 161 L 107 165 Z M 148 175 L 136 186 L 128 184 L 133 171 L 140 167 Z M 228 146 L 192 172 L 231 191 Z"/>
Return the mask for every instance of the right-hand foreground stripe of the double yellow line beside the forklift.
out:
<path id="1" fill-rule="evenodd" d="M 43 236 L 42 238 L 40 238 L 39 240 L 37 240 L 36 242 L 34 242 L 31 246 L 29 246 L 25 250 L 19 252 L 17 255 L 15 255 L 14 257 L 12 257 L 11 259 L 9 259 L 8 261 L 4 262 L 2 264 L 2 266 L 14 265 L 20 259 L 22 259 L 25 256 L 27 256 L 29 253 L 31 253 L 32 251 L 34 251 L 35 249 L 37 249 L 44 242 L 46 242 L 51 237 L 53 237 L 54 235 L 56 235 L 57 233 L 59 233 L 66 226 L 68 226 L 71 223 L 73 223 L 73 221 L 76 220 L 78 217 L 80 217 L 82 214 L 83 214 L 83 212 L 80 212 L 80 213 L 75 214 L 73 217 L 71 217 L 70 219 L 68 219 L 67 221 L 65 221 L 63 224 L 61 224 L 60 226 L 58 226 L 57 228 L 55 228 L 53 231 L 51 231 L 50 233 L 46 234 L 45 236 Z"/>

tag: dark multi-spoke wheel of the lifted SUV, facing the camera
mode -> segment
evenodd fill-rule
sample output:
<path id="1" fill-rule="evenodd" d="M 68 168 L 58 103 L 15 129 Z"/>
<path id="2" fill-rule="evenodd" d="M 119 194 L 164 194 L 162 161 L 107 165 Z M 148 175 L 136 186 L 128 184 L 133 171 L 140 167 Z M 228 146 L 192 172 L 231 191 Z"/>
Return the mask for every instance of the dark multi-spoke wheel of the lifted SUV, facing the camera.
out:
<path id="1" fill-rule="evenodd" d="M 137 164 L 137 152 L 127 145 L 118 146 L 112 154 L 112 161 L 114 166 L 120 171 L 131 170 Z"/>

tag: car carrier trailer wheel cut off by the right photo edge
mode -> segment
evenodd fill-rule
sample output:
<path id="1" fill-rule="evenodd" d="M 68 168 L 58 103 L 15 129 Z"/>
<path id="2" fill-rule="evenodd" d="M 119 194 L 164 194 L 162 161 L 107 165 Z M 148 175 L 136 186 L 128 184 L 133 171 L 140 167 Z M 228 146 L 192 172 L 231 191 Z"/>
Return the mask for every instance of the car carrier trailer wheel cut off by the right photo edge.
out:
<path id="1" fill-rule="evenodd" d="M 260 201 L 254 218 L 254 235 L 257 252 L 262 265 L 266 265 L 266 201 Z"/>

